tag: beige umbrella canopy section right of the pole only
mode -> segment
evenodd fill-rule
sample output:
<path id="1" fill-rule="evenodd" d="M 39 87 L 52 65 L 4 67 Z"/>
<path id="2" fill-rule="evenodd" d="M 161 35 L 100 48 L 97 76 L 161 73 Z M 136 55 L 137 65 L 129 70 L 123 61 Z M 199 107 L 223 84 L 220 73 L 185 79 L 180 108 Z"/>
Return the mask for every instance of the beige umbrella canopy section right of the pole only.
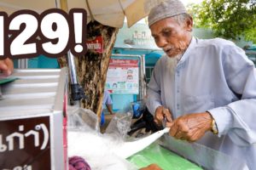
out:
<path id="1" fill-rule="evenodd" d="M 85 8 L 88 21 L 96 20 L 105 26 L 122 27 L 125 16 L 132 26 L 148 14 L 146 0 L 68 0 L 68 8 Z"/>

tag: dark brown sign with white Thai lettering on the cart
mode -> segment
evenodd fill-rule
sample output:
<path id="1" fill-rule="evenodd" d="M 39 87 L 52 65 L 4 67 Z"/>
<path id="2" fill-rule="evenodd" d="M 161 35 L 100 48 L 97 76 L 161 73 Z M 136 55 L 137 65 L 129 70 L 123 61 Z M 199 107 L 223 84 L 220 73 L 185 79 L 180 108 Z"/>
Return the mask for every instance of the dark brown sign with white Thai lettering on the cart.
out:
<path id="1" fill-rule="evenodd" d="M 50 169 L 49 116 L 0 121 L 1 169 Z"/>

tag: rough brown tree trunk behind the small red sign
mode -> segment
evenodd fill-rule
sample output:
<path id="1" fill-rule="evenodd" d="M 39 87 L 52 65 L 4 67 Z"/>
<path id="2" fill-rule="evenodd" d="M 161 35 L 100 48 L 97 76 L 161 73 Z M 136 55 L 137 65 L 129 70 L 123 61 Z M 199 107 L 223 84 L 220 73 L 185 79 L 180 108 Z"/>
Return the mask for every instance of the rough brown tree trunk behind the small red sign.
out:
<path id="1" fill-rule="evenodd" d="M 88 99 L 82 101 L 82 107 L 94 111 L 97 116 L 101 116 L 102 99 L 107 77 L 109 59 L 112 48 L 116 40 L 118 28 L 103 26 L 94 21 L 87 25 L 87 41 L 102 36 L 103 53 L 88 49 L 84 56 L 75 57 L 75 64 L 80 85 L 84 88 Z M 59 58 L 61 67 L 67 65 L 67 59 Z"/>

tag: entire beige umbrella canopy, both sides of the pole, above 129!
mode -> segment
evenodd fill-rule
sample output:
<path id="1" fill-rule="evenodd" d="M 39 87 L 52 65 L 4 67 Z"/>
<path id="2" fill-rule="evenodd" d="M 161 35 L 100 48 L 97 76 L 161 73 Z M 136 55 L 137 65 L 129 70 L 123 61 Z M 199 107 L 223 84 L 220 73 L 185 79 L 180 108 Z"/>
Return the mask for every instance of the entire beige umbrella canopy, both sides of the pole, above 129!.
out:
<path id="1" fill-rule="evenodd" d="M 61 8 L 63 0 L 1 0 L 0 10 L 11 14 L 20 9 L 42 13 L 48 8 Z M 122 27 L 125 17 L 128 26 L 147 16 L 149 9 L 160 0 L 66 0 L 68 8 L 85 8 L 88 21 L 96 20 L 105 26 Z"/>

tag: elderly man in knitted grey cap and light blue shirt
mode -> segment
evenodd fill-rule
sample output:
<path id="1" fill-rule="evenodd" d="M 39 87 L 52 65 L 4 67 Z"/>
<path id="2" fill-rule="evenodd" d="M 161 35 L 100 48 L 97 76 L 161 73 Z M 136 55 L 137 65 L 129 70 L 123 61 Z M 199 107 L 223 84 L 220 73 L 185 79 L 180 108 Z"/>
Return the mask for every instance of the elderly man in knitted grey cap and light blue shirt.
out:
<path id="1" fill-rule="evenodd" d="M 154 121 L 170 135 L 245 160 L 256 168 L 256 71 L 241 48 L 192 36 L 193 20 L 178 0 L 152 8 L 148 26 L 166 55 L 148 84 Z"/>

